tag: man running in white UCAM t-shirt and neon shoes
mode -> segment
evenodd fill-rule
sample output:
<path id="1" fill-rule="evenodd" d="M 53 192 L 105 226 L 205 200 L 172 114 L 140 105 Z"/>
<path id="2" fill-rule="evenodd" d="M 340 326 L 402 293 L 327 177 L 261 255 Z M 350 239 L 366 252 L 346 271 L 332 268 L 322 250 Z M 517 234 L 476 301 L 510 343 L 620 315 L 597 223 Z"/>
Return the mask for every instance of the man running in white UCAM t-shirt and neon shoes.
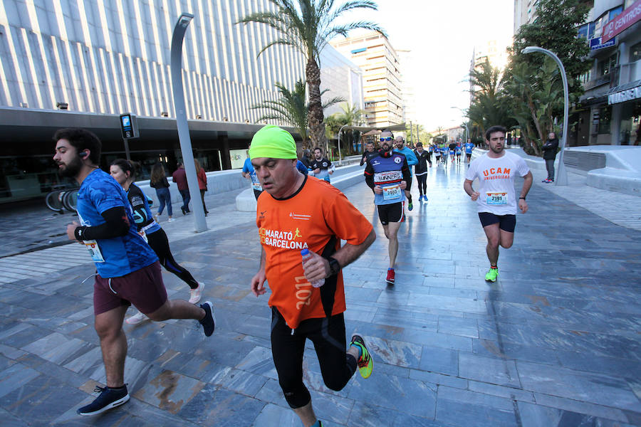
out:
<path id="1" fill-rule="evenodd" d="M 490 269 L 485 280 L 496 282 L 499 275 L 499 244 L 509 248 L 514 242 L 516 227 L 516 206 L 521 213 L 528 211 L 526 196 L 532 186 L 532 172 L 522 157 L 506 152 L 506 129 L 492 126 L 485 132 L 489 151 L 474 159 L 465 174 L 463 188 L 473 201 L 476 201 L 479 218 L 487 236 L 487 258 Z M 514 178 L 523 176 L 523 189 L 516 197 Z M 479 179 L 479 191 L 474 191 L 472 181 Z"/>

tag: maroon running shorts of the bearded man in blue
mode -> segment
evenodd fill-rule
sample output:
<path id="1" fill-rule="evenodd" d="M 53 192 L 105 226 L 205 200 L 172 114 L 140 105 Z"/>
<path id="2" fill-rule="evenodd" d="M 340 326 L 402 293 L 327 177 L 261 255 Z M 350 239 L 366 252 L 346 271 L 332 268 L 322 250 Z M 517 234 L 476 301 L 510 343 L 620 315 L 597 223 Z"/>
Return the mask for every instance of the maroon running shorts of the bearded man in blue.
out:
<path id="1" fill-rule="evenodd" d="M 93 314 L 100 315 L 121 305 L 134 305 L 142 314 L 155 312 L 167 301 L 160 263 L 156 261 L 120 278 L 95 276 Z"/>

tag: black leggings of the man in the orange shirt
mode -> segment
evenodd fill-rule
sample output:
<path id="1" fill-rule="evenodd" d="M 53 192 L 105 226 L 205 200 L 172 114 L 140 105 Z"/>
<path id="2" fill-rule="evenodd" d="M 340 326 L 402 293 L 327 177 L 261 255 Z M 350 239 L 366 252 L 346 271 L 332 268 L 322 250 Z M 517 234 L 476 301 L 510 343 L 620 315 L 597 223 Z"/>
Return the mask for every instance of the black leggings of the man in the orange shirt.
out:
<path id="1" fill-rule="evenodd" d="M 320 373 L 328 388 L 339 391 L 356 371 L 356 359 L 345 351 L 343 313 L 323 319 L 303 320 L 293 331 L 275 307 L 271 309 L 271 354 L 285 399 L 291 408 L 311 401 L 303 384 L 303 352 L 309 338 L 314 344 Z"/>

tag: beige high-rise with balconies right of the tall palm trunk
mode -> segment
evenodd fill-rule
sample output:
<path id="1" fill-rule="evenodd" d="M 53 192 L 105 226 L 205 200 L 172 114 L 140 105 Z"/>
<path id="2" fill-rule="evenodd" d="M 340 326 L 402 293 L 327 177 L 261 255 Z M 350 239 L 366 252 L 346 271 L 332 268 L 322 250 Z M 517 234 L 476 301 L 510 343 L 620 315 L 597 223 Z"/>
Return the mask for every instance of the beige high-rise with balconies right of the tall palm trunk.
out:
<path id="1" fill-rule="evenodd" d="M 368 126 L 387 127 L 402 123 L 399 58 L 387 38 L 372 32 L 331 44 L 363 70 L 363 100 Z"/>

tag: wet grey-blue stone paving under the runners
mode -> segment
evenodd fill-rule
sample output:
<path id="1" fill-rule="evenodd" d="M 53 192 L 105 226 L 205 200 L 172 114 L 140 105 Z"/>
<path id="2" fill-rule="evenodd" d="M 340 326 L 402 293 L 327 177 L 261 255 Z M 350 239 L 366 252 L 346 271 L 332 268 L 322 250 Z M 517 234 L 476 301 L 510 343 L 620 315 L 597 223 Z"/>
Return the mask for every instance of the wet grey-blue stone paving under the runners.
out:
<path id="1" fill-rule="evenodd" d="M 400 228 L 393 288 L 372 193 L 365 184 L 345 191 L 378 235 L 344 272 L 347 334 L 365 337 L 375 369 L 330 391 L 308 344 L 305 381 L 323 425 L 641 426 L 641 233 L 536 185 L 514 247 L 501 253 L 499 282 L 487 284 L 463 171 L 430 169 L 429 202 Z M 132 400 L 101 416 L 75 415 L 105 381 L 92 287 L 80 284 L 93 266 L 78 258 L 0 285 L 3 426 L 301 425 L 273 369 L 268 295 L 249 292 L 255 223 L 229 204 L 217 209 L 217 230 L 170 238 L 177 260 L 207 283 L 217 331 L 125 325 Z M 187 297 L 187 285 L 163 274 L 172 297 Z"/>

